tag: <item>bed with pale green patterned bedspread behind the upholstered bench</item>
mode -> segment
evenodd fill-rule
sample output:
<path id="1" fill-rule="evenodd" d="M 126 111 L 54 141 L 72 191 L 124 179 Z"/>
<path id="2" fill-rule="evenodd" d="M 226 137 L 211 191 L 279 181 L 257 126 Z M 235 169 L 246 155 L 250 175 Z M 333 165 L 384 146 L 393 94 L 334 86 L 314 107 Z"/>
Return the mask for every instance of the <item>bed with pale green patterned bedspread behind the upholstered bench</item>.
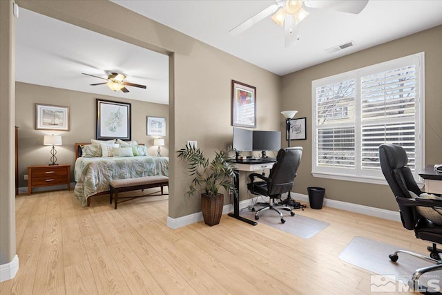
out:
<path id="1" fill-rule="evenodd" d="M 169 175 L 167 157 L 82 157 L 81 146 L 89 144 L 75 144 L 74 194 L 82 207 L 90 206 L 90 197 L 109 193 L 112 180 Z"/>

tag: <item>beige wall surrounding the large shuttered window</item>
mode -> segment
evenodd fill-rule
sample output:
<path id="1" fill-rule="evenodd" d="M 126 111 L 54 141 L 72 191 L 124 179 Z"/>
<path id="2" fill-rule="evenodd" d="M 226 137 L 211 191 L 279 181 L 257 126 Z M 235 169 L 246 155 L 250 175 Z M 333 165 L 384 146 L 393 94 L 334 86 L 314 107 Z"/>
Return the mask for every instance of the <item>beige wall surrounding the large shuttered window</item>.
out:
<path id="1" fill-rule="evenodd" d="M 425 163 L 442 162 L 442 26 L 397 39 L 339 59 L 312 66 L 282 77 L 282 108 L 298 110 L 296 117 L 307 117 L 307 140 L 295 191 L 324 187 L 329 199 L 397 210 L 392 191 L 386 185 L 364 184 L 314 178 L 311 175 L 311 81 L 362 68 L 383 61 L 425 52 Z"/>

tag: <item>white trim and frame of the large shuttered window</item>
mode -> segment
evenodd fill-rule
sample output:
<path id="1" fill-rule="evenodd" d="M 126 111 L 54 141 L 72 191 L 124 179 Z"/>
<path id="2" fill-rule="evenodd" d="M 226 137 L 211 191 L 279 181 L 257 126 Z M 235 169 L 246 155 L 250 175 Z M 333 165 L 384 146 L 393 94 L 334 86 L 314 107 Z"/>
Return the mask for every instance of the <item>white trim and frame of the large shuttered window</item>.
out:
<path id="1" fill-rule="evenodd" d="M 371 184 L 385 184 L 387 185 L 387 181 L 383 177 L 383 175 L 352 175 L 348 172 L 352 171 L 353 173 L 358 173 L 358 167 L 355 169 L 339 169 L 339 168 L 329 168 L 329 169 L 318 169 L 316 166 L 316 87 L 318 85 L 327 83 L 339 82 L 344 79 L 348 79 L 349 77 L 356 77 L 356 97 L 355 104 L 361 104 L 361 91 L 360 91 L 360 79 L 362 76 L 367 75 L 367 72 L 375 71 L 383 71 L 390 70 L 394 68 L 395 64 L 401 66 L 404 60 L 414 59 L 416 68 L 419 67 L 419 73 L 416 74 L 416 84 L 419 85 L 418 91 L 416 92 L 416 101 L 415 101 L 415 135 L 416 135 L 416 145 L 415 145 L 415 158 L 416 158 L 416 166 L 413 173 L 414 179 L 418 184 L 422 185 L 423 180 L 419 177 L 419 172 L 425 168 L 425 53 L 416 53 L 414 55 L 408 55 L 406 57 L 400 57 L 398 59 L 393 59 L 391 61 L 385 61 L 380 64 L 375 64 L 372 66 L 367 66 L 364 68 L 358 68 L 356 70 L 351 70 L 345 73 L 340 73 L 338 75 L 333 75 L 330 77 L 325 77 L 322 79 L 317 79 L 311 82 L 311 174 L 317 178 L 328 178 L 334 180 L 346 180 L 353 182 L 365 182 Z M 359 106 L 358 106 L 359 108 Z M 361 117 L 356 117 L 356 129 L 360 130 L 361 128 Z M 356 144 L 361 143 L 361 134 L 360 132 L 356 133 Z M 356 146 L 356 157 L 360 157 L 360 151 L 358 146 Z M 347 173 L 343 173 L 343 171 Z"/>

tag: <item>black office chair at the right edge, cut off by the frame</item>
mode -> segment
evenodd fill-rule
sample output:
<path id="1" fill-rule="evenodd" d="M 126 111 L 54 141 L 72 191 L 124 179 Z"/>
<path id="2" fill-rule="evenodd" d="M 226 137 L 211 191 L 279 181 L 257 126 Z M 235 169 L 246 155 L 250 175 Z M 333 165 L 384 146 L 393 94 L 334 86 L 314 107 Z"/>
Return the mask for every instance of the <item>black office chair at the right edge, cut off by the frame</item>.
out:
<path id="1" fill-rule="evenodd" d="M 442 269 L 442 251 L 436 247 L 436 243 L 442 244 L 442 225 L 436 225 L 436 223 L 427 219 L 432 217 L 427 216 L 427 213 L 423 210 L 434 210 L 434 207 L 442 207 L 442 202 L 440 200 L 416 198 L 423 192 L 414 181 L 410 168 L 406 166 L 408 158 L 403 147 L 395 144 L 381 144 L 379 146 L 379 160 L 385 179 L 398 202 L 403 227 L 414 230 L 416 238 L 432 242 L 432 247 L 427 247 L 430 251 L 430 257 L 405 250 L 398 250 L 389 256 L 393 262 L 398 260 L 398 253 L 405 253 L 436 263 L 436 265 L 416 269 L 412 279 L 408 282 L 410 287 L 416 289 L 420 287 L 419 278 L 422 274 Z M 413 195 L 416 196 L 413 198 Z"/>

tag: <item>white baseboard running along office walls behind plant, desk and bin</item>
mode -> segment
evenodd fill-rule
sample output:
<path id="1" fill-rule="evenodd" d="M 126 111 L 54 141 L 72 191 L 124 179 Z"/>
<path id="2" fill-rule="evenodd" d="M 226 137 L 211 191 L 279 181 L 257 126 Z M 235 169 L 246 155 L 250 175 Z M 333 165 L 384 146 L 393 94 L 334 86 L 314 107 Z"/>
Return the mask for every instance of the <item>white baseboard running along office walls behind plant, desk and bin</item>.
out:
<path id="1" fill-rule="evenodd" d="M 291 198 L 293 198 L 295 200 L 300 200 L 302 202 L 307 202 L 307 203 L 309 202 L 309 196 L 303 195 L 302 193 L 293 193 L 292 192 Z M 244 207 L 247 207 L 247 206 L 253 204 L 254 199 L 255 198 L 251 198 L 251 199 L 241 201 L 240 208 L 244 208 Z M 350 212 L 354 212 L 354 213 L 361 213 L 361 214 L 364 214 L 367 216 L 374 216 L 374 217 L 378 217 L 378 218 L 401 222 L 401 215 L 399 214 L 399 212 L 396 212 L 396 211 L 385 210 L 385 209 L 380 209 L 380 208 L 375 208 L 375 207 L 369 207 L 369 206 L 364 206 L 364 205 L 360 205 L 360 204 L 353 204 L 353 203 L 349 203 L 349 202 L 342 202 L 342 201 L 337 201 L 337 200 L 329 200 L 327 198 L 324 199 L 324 206 L 334 208 L 334 209 L 340 209 L 340 210 L 344 210 L 344 211 L 350 211 Z M 229 213 L 232 211 L 233 211 L 232 204 L 224 205 L 224 207 L 222 208 L 223 214 Z M 182 216 L 179 218 L 171 218 L 168 216 L 167 217 L 167 226 L 170 227 L 171 229 L 177 229 L 180 227 L 185 227 L 186 225 L 191 225 L 192 223 L 199 222 L 201 220 L 202 220 L 202 213 L 201 212 L 193 213 L 193 214 L 190 214 L 187 216 Z"/>

